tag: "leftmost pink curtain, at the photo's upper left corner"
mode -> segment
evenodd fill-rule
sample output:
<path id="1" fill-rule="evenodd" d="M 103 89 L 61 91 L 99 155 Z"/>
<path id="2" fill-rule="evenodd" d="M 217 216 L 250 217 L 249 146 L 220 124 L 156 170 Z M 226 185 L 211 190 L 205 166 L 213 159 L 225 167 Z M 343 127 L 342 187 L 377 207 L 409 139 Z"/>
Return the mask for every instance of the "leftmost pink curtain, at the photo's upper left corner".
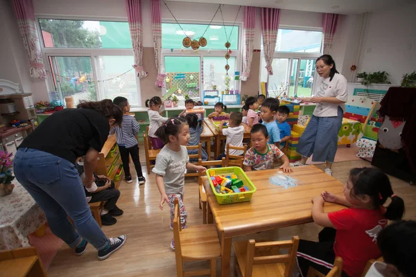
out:
<path id="1" fill-rule="evenodd" d="M 46 78 L 42 52 L 40 51 L 39 36 L 37 35 L 35 12 L 32 0 L 13 0 L 13 10 L 17 18 L 21 39 L 31 63 L 32 78 Z"/>

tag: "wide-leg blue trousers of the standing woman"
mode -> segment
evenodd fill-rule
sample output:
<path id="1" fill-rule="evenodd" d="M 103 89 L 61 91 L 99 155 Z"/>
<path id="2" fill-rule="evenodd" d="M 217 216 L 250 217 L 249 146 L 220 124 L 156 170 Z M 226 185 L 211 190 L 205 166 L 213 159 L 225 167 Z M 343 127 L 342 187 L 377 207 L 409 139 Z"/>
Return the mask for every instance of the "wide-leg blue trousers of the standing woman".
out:
<path id="1" fill-rule="evenodd" d="M 297 144 L 297 150 L 303 157 L 312 161 L 333 163 L 338 148 L 338 132 L 343 125 L 343 109 L 338 107 L 338 116 L 312 116 Z"/>

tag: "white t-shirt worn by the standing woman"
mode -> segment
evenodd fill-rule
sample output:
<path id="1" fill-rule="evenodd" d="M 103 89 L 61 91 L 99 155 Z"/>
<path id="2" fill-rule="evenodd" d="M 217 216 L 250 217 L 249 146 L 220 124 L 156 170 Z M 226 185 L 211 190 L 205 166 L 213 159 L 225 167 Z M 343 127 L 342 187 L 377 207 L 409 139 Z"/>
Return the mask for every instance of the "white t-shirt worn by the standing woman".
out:
<path id="1" fill-rule="evenodd" d="M 319 77 L 316 79 L 315 89 L 312 94 L 315 97 L 336 97 L 343 102 L 347 102 L 347 79 L 341 74 L 335 73 L 331 82 L 330 78 Z M 345 104 L 333 104 L 329 102 L 320 102 L 316 104 L 314 116 L 327 117 L 338 116 L 338 106 L 345 112 Z"/>

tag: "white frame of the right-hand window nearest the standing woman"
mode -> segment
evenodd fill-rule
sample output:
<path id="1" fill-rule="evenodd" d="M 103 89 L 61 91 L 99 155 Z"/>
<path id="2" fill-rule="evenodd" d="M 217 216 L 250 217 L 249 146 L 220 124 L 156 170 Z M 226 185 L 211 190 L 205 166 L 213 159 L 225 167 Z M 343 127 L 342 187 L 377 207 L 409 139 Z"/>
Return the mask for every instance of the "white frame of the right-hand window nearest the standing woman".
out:
<path id="1" fill-rule="evenodd" d="M 322 32 L 322 42 L 321 42 L 321 48 L 320 48 L 320 52 L 319 53 L 302 53 L 302 52 L 278 52 L 275 51 L 275 53 L 273 54 L 273 59 L 288 59 L 289 61 L 289 73 L 292 72 L 293 70 L 293 60 L 298 60 L 297 62 L 297 68 L 296 68 L 296 75 L 295 75 L 295 80 L 294 80 L 294 84 L 297 84 L 297 82 L 299 81 L 299 71 L 300 71 L 300 64 L 302 60 L 316 60 L 318 59 L 318 57 L 320 57 L 321 55 L 323 55 L 323 48 L 324 48 L 324 30 L 321 27 L 302 27 L 302 26 L 289 26 L 289 25 L 279 25 L 279 29 L 286 29 L 286 30 L 306 30 L 306 31 L 315 31 L 315 32 Z M 264 51 L 263 51 L 263 42 L 261 42 L 261 57 L 260 57 L 260 70 L 259 70 L 259 80 L 261 80 L 261 71 L 262 70 L 266 70 L 263 69 L 263 66 L 261 66 L 261 61 L 264 59 Z M 315 80 L 316 80 L 316 71 L 315 74 L 313 75 L 313 86 L 311 89 L 311 95 L 313 92 L 313 89 L 315 89 Z M 290 74 L 289 74 L 289 78 L 290 78 Z M 269 75 L 267 75 L 267 82 L 269 80 Z M 261 82 L 259 82 L 259 91 L 261 91 Z M 288 93 L 289 91 L 291 91 L 291 82 L 289 82 L 288 85 Z M 297 86 L 295 86 L 295 89 L 293 90 L 293 93 L 297 92 Z"/>

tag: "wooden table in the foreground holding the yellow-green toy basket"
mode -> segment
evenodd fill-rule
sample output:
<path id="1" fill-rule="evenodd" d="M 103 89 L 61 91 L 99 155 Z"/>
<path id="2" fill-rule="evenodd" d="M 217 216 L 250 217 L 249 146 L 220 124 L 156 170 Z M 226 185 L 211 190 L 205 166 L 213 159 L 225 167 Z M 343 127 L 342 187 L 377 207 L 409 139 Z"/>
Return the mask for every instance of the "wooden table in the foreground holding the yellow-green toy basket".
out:
<path id="1" fill-rule="evenodd" d="M 220 205 L 216 201 L 207 177 L 203 185 L 207 192 L 209 223 L 212 217 L 220 232 L 221 276 L 229 276 L 232 238 L 239 235 L 278 229 L 286 226 L 313 222 L 312 197 L 322 191 L 342 195 L 344 185 L 315 166 L 293 168 L 291 177 L 297 179 L 297 187 L 284 189 L 269 182 L 278 169 L 246 172 L 257 192 L 250 202 Z M 283 174 L 283 173 L 281 173 Z M 325 203 L 324 211 L 338 211 L 344 206 Z"/>

